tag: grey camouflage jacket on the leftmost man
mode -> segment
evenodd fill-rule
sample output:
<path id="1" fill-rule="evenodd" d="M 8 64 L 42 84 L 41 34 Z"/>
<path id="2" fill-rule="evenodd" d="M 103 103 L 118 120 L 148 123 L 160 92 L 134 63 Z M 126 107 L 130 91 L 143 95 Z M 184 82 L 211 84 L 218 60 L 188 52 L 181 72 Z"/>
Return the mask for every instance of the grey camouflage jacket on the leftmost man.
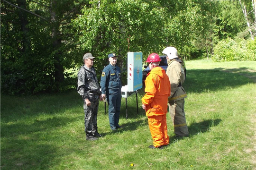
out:
<path id="1" fill-rule="evenodd" d="M 100 85 L 94 68 L 82 65 L 77 74 L 77 92 L 82 95 L 83 100 L 95 95 L 101 95 Z"/>

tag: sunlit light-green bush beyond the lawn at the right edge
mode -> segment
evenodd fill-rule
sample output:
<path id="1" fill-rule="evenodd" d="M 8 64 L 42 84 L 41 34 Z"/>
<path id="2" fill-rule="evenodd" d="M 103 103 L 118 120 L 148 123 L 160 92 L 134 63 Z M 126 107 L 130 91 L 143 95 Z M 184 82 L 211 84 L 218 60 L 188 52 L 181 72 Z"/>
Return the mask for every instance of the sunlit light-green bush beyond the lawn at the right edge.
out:
<path id="1" fill-rule="evenodd" d="M 255 61 L 256 41 L 228 38 L 218 42 L 214 47 L 214 61 Z"/>

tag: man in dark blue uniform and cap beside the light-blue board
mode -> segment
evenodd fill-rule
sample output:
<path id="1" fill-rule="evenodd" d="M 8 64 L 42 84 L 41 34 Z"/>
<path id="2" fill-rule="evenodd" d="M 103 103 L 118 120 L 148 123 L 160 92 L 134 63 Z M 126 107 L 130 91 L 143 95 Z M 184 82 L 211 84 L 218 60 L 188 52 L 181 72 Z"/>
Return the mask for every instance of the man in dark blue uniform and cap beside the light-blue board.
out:
<path id="1" fill-rule="evenodd" d="M 119 115 L 121 108 L 121 70 L 117 64 L 115 53 L 109 54 L 110 64 L 106 66 L 101 74 L 102 99 L 107 98 L 109 104 L 109 120 L 111 130 L 121 128 L 119 126 Z"/>

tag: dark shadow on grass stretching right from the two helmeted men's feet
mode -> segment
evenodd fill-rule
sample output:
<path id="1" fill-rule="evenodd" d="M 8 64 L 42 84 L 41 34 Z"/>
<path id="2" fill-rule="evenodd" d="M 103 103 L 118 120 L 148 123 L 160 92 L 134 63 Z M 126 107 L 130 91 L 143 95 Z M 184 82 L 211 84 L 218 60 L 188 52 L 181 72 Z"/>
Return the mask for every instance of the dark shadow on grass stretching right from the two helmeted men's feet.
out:
<path id="1" fill-rule="evenodd" d="M 189 136 L 188 137 L 192 137 L 195 136 L 199 133 L 204 133 L 207 132 L 210 127 L 215 127 L 217 125 L 219 125 L 219 122 L 221 121 L 221 119 L 208 119 L 208 120 L 203 120 L 201 122 L 193 122 L 189 127 Z M 170 137 L 170 144 L 176 142 L 177 140 L 182 139 L 181 137 L 176 137 L 176 136 L 172 136 Z"/>

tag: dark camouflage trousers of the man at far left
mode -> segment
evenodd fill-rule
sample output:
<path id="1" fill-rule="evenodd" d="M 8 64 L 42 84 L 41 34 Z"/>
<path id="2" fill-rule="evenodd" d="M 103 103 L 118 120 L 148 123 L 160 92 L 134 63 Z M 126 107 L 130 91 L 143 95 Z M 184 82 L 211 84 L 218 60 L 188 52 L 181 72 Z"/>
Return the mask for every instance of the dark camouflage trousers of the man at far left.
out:
<path id="1" fill-rule="evenodd" d="M 91 106 L 87 106 L 83 103 L 84 110 L 84 131 L 87 133 L 92 133 L 98 131 L 97 127 L 97 115 L 99 108 L 99 96 L 88 97 L 91 102 Z"/>

